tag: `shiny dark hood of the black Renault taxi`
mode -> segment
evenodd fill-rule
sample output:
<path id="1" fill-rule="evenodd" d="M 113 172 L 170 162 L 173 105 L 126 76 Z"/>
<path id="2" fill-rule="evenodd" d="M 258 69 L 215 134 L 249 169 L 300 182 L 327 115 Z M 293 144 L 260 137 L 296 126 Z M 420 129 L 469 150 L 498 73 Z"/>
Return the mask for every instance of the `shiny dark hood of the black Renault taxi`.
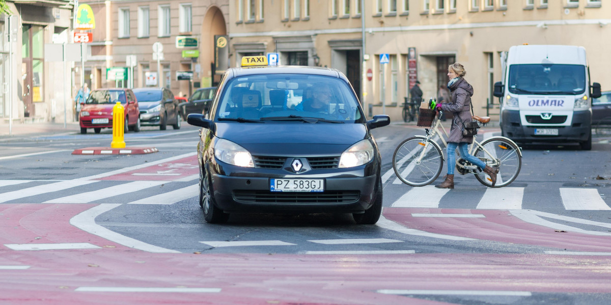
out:
<path id="1" fill-rule="evenodd" d="M 216 137 L 251 154 L 341 154 L 370 137 L 365 124 L 216 123 Z"/>

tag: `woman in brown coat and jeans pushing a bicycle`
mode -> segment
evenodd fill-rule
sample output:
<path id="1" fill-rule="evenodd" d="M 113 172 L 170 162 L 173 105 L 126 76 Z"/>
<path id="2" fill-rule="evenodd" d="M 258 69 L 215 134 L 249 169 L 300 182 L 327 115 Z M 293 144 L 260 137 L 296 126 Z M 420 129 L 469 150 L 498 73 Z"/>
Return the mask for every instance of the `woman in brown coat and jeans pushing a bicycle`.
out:
<path id="1" fill-rule="evenodd" d="M 467 72 L 464 66 L 460 63 L 453 63 L 448 66 L 448 89 L 450 89 L 450 99 L 448 101 L 436 105 L 437 111 L 442 110 L 452 112 L 452 127 L 450 128 L 450 136 L 448 137 L 448 174 L 445 176 L 445 181 L 435 185 L 437 188 L 454 188 L 454 168 L 456 167 L 456 147 L 458 147 L 463 159 L 477 165 L 481 170 L 490 176 L 492 186 L 496 184 L 496 175 L 499 173 L 498 168 L 492 168 L 486 165 L 482 160 L 477 159 L 469 154 L 468 146 L 473 143 L 473 136 L 463 136 L 463 122 L 471 121 L 471 113 L 469 111 L 471 104 L 471 96 L 473 96 L 473 87 L 464 79 Z"/>

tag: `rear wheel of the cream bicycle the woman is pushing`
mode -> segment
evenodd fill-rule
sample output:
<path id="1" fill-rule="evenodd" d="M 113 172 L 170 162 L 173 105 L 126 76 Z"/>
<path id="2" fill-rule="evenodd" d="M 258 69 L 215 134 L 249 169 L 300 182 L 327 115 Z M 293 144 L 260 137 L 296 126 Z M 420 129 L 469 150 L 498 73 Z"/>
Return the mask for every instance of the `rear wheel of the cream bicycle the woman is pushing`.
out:
<path id="1" fill-rule="evenodd" d="M 504 138 L 491 137 L 481 142 L 481 146 L 483 146 L 489 154 L 478 148 L 475 151 L 475 157 L 485 162 L 486 165 L 499 168 L 497 182 L 494 187 L 509 185 L 518 177 L 520 169 L 522 168 L 522 156 L 518 151 L 519 148 L 517 145 Z M 488 174 L 483 172 L 478 173 L 475 174 L 475 178 L 477 178 L 481 184 L 492 187 L 492 181 L 490 181 Z"/>

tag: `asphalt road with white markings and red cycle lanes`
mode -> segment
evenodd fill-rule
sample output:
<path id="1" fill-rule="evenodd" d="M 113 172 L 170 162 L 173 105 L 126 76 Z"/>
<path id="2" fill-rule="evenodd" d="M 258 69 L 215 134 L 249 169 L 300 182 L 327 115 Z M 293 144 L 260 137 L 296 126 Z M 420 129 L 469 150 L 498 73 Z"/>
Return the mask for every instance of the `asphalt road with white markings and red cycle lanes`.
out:
<path id="1" fill-rule="evenodd" d="M 109 146 L 109 131 L 0 140 L 0 290 L 10 290 L 0 303 L 202 293 L 216 304 L 611 303 L 608 137 L 591 151 L 525 147 L 508 187 L 456 175 L 446 192 L 396 182 L 394 148 L 422 129 L 391 124 L 373 131 L 384 162 L 375 226 L 343 214 L 232 214 L 215 225 L 197 204 L 197 134 L 144 127 L 125 142 L 159 152 L 123 156 L 71 154 Z"/>

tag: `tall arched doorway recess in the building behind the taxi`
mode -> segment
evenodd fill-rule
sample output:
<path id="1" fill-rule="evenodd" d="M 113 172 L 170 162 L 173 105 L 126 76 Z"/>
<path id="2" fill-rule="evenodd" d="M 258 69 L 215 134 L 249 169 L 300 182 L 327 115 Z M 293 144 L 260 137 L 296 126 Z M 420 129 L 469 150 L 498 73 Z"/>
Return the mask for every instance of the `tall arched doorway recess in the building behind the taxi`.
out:
<path id="1" fill-rule="evenodd" d="M 202 41 L 200 43 L 200 63 L 202 65 L 202 85 L 216 85 L 221 80 L 221 75 L 213 75 L 214 65 L 214 35 L 227 35 L 227 24 L 225 17 L 219 7 L 211 6 L 203 17 Z"/>

